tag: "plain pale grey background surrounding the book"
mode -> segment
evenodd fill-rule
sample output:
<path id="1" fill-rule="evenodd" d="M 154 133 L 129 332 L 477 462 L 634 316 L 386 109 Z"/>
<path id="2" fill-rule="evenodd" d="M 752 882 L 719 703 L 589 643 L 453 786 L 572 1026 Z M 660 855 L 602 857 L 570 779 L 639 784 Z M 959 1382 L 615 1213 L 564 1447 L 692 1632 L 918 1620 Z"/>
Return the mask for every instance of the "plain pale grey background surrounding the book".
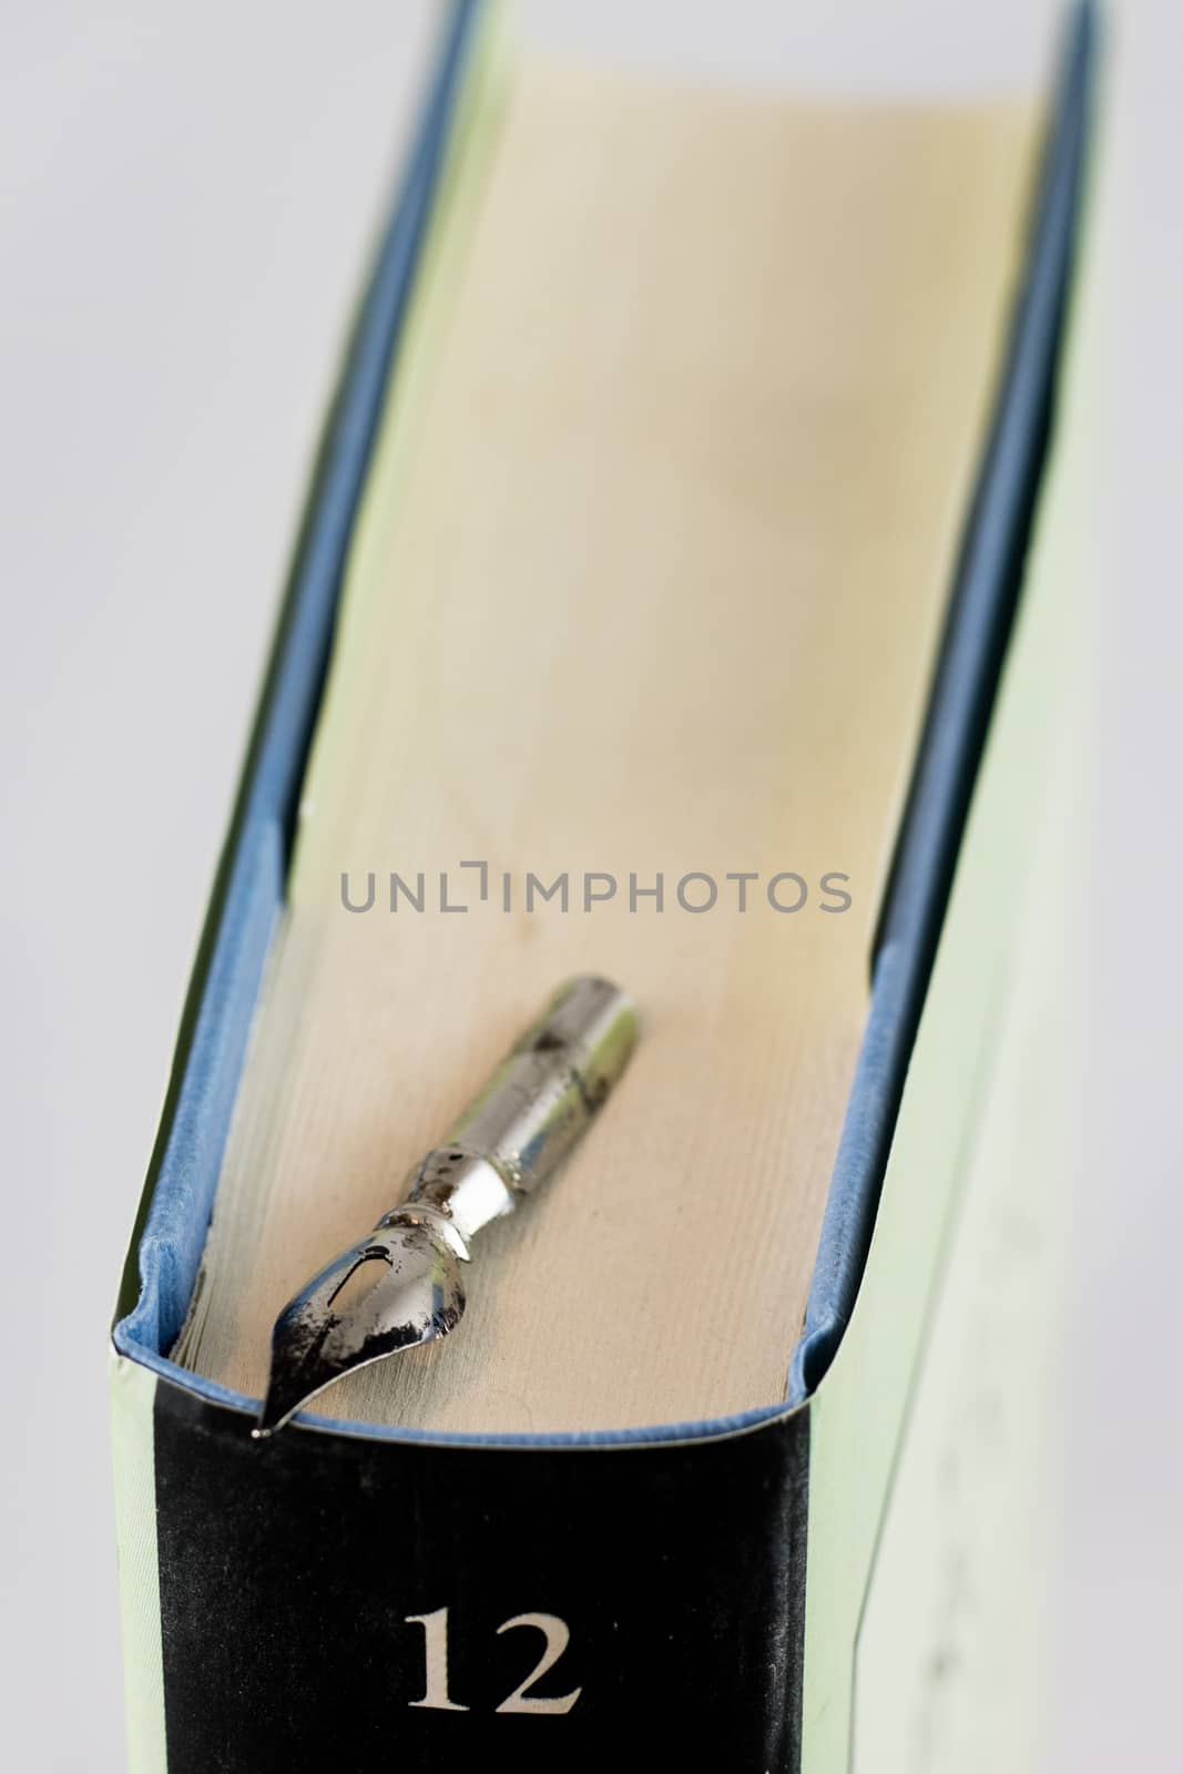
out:
<path id="1" fill-rule="evenodd" d="M 1048 1767 L 1183 1765 L 1183 28 L 1117 5 L 1100 687 Z M 568 0 L 553 41 L 811 85 L 1039 66 L 1027 0 Z M 105 1334 L 303 475 L 429 4 L 0 11 L 0 1756 L 122 1767 Z M 1048 818 L 1055 809 L 1048 811 Z"/>

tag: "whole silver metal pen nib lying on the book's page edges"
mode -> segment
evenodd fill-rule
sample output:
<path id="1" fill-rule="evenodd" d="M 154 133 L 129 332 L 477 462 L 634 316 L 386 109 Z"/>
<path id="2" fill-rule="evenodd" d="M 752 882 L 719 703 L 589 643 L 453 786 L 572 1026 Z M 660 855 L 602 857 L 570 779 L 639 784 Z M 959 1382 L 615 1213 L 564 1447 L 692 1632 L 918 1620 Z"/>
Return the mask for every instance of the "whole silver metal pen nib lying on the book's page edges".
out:
<path id="1" fill-rule="evenodd" d="M 447 1141 L 410 1173 L 399 1205 L 278 1315 L 255 1437 L 344 1373 L 456 1329 L 474 1233 L 559 1169 L 635 1041 L 637 1011 L 607 979 L 571 979 L 555 993 Z"/>

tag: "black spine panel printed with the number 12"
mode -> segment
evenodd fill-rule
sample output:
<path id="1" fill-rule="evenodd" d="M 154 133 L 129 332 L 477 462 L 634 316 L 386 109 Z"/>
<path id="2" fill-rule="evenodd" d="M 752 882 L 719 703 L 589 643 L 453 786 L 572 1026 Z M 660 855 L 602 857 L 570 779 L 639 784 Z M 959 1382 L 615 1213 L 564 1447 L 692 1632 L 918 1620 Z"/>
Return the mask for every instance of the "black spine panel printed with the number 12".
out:
<path id="1" fill-rule="evenodd" d="M 465 1446 L 153 1410 L 168 1774 L 800 1763 L 809 1412 Z"/>

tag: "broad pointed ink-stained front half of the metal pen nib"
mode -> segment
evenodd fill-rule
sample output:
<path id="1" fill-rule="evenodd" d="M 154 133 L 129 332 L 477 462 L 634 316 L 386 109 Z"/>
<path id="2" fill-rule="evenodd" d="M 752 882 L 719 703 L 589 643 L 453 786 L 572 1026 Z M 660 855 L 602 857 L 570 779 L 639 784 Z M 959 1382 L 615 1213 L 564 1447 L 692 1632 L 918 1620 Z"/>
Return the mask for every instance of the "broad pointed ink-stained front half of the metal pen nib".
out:
<path id="1" fill-rule="evenodd" d="M 442 1213 L 410 1205 L 342 1251 L 275 1320 L 255 1439 L 355 1368 L 447 1336 L 465 1309 L 466 1260 L 465 1240 Z"/>

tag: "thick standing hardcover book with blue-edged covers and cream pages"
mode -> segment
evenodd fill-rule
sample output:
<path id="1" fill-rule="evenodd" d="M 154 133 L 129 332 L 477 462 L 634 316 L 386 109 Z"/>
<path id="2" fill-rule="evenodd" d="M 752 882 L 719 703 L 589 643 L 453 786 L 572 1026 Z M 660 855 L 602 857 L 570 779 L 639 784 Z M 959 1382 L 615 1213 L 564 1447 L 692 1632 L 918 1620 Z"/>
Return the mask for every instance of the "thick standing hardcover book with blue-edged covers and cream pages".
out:
<path id="1" fill-rule="evenodd" d="M 456 9 L 114 1330 L 133 1767 L 936 1730 L 931 1547 L 912 1636 L 897 1598 L 924 1352 L 1000 1238 L 986 1185 L 952 1238 L 958 1178 L 1039 1050 L 1093 60 L 1085 9 L 1045 99 L 802 101 Z M 578 972 L 637 1054 L 463 1323 L 252 1439 L 286 1300 Z"/>

